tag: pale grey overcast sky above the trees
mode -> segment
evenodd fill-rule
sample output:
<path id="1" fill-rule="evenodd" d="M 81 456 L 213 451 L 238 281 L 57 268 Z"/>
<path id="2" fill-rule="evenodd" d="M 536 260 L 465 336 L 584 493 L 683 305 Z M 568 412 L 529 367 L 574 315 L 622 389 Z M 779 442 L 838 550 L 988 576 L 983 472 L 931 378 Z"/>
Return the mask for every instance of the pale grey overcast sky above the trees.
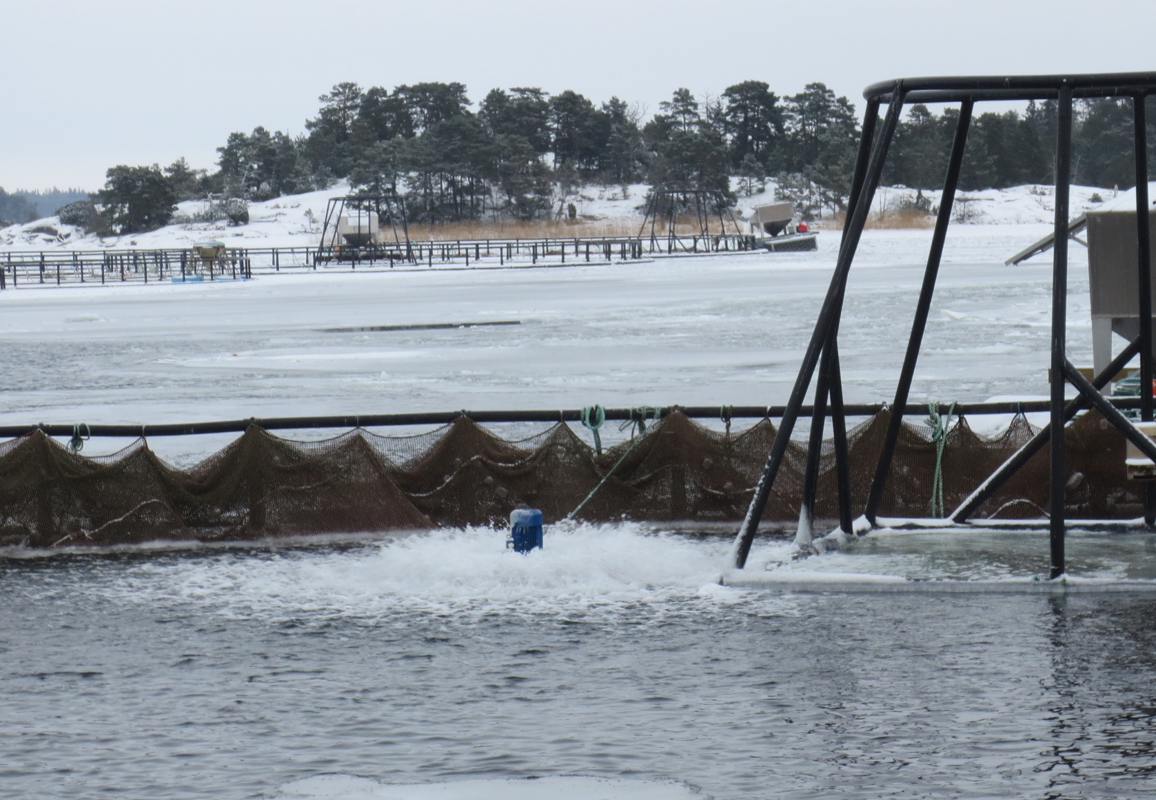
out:
<path id="1" fill-rule="evenodd" d="M 339 81 L 612 95 L 651 112 L 758 79 L 1156 69 L 1156 1 L 6 0 L 0 186 L 97 188 L 110 165 L 212 168 L 230 131 L 301 133 Z"/>

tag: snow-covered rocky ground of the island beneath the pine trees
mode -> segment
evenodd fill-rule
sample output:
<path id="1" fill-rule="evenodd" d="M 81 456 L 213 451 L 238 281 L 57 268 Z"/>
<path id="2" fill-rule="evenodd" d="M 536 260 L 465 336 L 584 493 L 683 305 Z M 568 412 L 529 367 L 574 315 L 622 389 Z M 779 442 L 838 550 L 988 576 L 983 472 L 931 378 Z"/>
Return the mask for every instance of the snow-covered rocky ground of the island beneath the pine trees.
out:
<path id="1" fill-rule="evenodd" d="M 606 220 L 640 216 L 649 186 L 633 184 L 620 186 L 587 186 L 568 199 L 573 202 L 579 217 Z M 734 182 L 738 190 L 738 180 Z M 1156 184 L 1153 194 L 1156 197 Z M 769 182 L 764 191 L 739 199 L 738 214 L 749 216 L 754 206 L 775 202 L 775 184 Z M 1040 224 L 1053 218 L 1053 188 L 1028 185 L 981 192 L 962 192 L 956 200 L 957 222 L 973 224 Z M 158 249 L 187 247 L 206 239 L 220 239 L 234 247 L 305 247 L 316 246 L 320 240 L 321 223 L 329 198 L 349 193 L 346 183 L 338 183 L 327 190 L 291 194 L 249 207 L 250 222 L 230 227 L 227 222 L 175 222 L 148 234 L 129 236 L 96 237 L 91 234 L 60 224 L 50 216 L 22 225 L 0 229 L 0 251 L 3 250 L 95 250 L 95 249 Z M 881 187 L 876 193 L 873 210 L 887 215 L 914 203 L 919 193 L 903 186 Z M 927 205 L 935 207 L 940 192 L 922 192 Z M 1075 216 L 1097 207 L 1127 205 L 1131 193 L 1091 186 L 1072 187 L 1072 215 Z M 1132 201 L 1134 202 L 1134 201 Z M 1103 206 L 1102 206 L 1103 203 Z M 190 200 L 177 208 L 177 218 L 193 217 L 205 208 L 203 201 Z"/>

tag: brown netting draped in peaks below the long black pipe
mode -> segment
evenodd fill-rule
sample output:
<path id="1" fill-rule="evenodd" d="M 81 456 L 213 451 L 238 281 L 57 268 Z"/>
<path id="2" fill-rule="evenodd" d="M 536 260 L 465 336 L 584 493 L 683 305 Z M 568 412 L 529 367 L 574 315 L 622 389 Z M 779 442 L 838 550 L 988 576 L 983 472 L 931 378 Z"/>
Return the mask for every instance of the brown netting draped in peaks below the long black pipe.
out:
<path id="1" fill-rule="evenodd" d="M 888 413 L 847 431 L 852 508 L 862 509 Z M 295 442 L 250 428 L 192 469 L 177 469 L 141 440 L 89 458 L 36 431 L 0 443 L 0 546 L 53 547 L 156 539 L 251 540 L 318 533 L 501 525 L 516 508 L 547 521 L 570 513 L 607 473 L 579 518 L 609 521 L 736 523 L 746 513 L 776 428 L 770 420 L 736 434 L 710 430 L 674 413 L 596 455 L 565 424 L 510 442 L 460 417 L 418 436 L 353 430 Z M 965 420 L 948 435 L 944 506 L 962 502 L 1036 429 L 1016 416 L 983 437 Z M 1068 514 L 1129 518 L 1142 513 L 1125 480 L 1124 437 L 1090 412 L 1065 432 Z M 763 516 L 792 521 L 806 466 L 792 442 Z M 621 464 L 618 461 L 621 460 Z M 835 457 L 824 442 L 816 516 L 837 517 Z M 931 430 L 904 423 L 880 512 L 926 517 L 935 473 Z M 1045 447 L 976 518 L 1039 518 L 1048 502 Z"/>

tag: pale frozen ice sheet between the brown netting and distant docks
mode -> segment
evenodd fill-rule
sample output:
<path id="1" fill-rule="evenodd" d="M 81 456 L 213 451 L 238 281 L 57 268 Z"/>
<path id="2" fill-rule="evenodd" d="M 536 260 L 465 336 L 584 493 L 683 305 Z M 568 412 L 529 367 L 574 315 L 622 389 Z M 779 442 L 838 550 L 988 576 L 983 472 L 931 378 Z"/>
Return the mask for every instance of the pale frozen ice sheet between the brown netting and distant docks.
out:
<path id="1" fill-rule="evenodd" d="M 1002 265 L 1044 230 L 953 229 L 913 401 L 1046 394 L 1050 265 L 1046 258 Z M 840 328 L 850 402 L 894 392 L 929 236 L 879 230 L 864 237 Z M 833 267 L 837 235 L 820 242 L 815 253 L 564 269 L 21 286 L 0 292 L 9 364 L 0 421 L 781 403 Z M 1079 363 L 1091 351 L 1083 258 L 1074 247 L 1069 347 Z M 521 325 L 324 331 L 509 319 Z M 153 444 L 188 461 L 228 438 Z"/>

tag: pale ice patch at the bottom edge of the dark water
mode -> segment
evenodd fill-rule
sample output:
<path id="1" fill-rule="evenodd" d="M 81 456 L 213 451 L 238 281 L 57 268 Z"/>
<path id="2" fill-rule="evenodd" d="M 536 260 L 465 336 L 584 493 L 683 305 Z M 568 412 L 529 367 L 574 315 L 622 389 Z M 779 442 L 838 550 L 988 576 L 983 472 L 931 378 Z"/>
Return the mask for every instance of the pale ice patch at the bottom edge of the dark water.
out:
<path id="1" fill-rule="evenodd" d="M 387 785 L 369 778 L 325 775 L 282 786 L 276 800 L 691 800 L 684 784 L 608 778 L 460 780 Z"/>

